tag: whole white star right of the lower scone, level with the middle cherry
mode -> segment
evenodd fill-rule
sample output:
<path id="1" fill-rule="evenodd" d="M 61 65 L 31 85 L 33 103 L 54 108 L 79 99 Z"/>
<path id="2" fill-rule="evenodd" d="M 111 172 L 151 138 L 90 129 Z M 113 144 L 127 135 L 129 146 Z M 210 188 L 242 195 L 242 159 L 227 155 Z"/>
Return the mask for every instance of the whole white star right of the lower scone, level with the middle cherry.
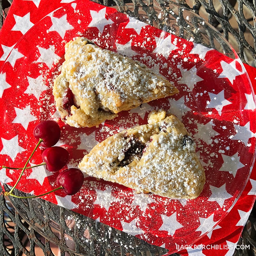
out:
<path id="1" fill-rule="evenodd" d="M 238 152 L 236 152 L 236 154 L 233 156 L 226 156 L 224 154 L 221 155 L 224 163 L 220 167 L 219 171 L 232 173 L 235 178 L 237 170 L 245 166 L 240 162 L 240 156 L 238 156 Z"/>

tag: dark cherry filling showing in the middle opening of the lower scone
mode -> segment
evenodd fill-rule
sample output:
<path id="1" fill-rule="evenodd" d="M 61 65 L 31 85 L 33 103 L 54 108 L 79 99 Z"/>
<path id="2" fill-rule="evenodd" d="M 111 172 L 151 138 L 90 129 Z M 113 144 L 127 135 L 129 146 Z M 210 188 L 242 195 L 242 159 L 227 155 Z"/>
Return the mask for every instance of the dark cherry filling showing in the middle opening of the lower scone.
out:
<path id="1" fill-rule="evenodd" d="M 143 154 L 143 149 L 145 148 L 145 144 L 143 144 L 141 141 L 139 141 L 137 138 L 134 138 L 134 137 L 132 138 L 130 137 L 128 138 L 128 140 L 129 140 L 129 146 L 124 148 L 124 159 L 122 161 L 119 161 L 118 166 L 124 167 L 132 163 L 135 157 L 140 160 Z"/>

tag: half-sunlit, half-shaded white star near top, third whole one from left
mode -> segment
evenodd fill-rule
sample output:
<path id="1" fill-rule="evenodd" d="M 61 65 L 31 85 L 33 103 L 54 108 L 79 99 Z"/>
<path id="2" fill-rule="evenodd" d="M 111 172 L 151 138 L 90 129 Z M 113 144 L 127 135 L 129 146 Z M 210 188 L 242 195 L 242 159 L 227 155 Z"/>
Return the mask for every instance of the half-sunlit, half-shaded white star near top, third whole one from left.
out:
<path id="1" fill-rule="evenodd" d="M 110 19 L 106 19 L 106 7 L 101 9 L 99 12 L 90 10 L 92 21 L 88 25 L 88 27 L 96 27 L 99 29 L 100 33 L 102 34 L 105 26 L 113 24 L 114 21 Z"/>

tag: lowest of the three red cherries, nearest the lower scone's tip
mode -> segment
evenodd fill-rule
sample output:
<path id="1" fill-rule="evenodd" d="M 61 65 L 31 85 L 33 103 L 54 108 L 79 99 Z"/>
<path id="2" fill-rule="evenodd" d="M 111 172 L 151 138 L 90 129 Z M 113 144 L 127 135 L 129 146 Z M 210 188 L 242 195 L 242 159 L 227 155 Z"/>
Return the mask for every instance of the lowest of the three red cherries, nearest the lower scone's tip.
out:
<path id="1" fill-rule="evenodd" d="M 76 194 L 84 183 L 84 174 L 77 168 L 69 168 L 57 177 L 57 184 L 61 186 L 67 195 Z"/>

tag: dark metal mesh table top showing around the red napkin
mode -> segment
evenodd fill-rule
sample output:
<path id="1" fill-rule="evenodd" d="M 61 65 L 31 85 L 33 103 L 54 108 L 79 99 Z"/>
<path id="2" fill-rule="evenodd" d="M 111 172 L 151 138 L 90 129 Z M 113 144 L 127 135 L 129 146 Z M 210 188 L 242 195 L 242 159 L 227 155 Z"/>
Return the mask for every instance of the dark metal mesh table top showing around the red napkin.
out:
<path id="1" fill-rule="evenodd" d="M 101 3 L 109 5 L 110 2 L 118 5 L 123 1 L 104 0 Z M 0 27 L 2 26 L 8 7 L 11 4 L 11 0 L 0 1 Z M 99 1 L 100 2 L 100 1 Z M 124 1 L 125 2 L 125 1 Z M 124 3 L 123 2 L 123 3 Z M 135 4 L 139 1 L 133 1 Z M 222 35 L 230 42 L 238 53 L 239 57 L 244 63 L 247 63 L 253 67 L 256 67 L 256 0 L 177 0 L 179 4 L 191 9 L 193 12 L 199 14 L 210 24 L 212 24 Z M 1 192 L 1 191 L 0 191 Z M 67 223 L 62 218 L 66 212 L 74 215 L 74 218 L 81 219 L 85 216 L 81 216 L 60 206 L 51 204 L 50 202 L 42 199 L 36 200 L 15 200 L 10 202 L 8 198 L 5 198 L 2 194 L 0 196 L 0 252 L 1 255 L 57 255 L 54 253 L 54 243 L 59 246 L 59 254 L 64 255 L 76 255 L 72 252 L 65 252 L 65 236 L 69 233 Z M 20 216 L 13 208 L 12 204 L 20 205 L 23 208 L 23 216 Z M 44 223 L 38 215 L 37 209 L 41 208 L 44 214 L 48 214 L 53 217 L 56 222 L 56 227 L 49 228 L 47 223 Z M 24 221 L 29 219 L 34 223 L 38 223 L 38 228 L 31 228 L 31 226 Z M 63 222 L 64 221 L 64 222 Z M 121 231 L 112 229 L 110 239 L 99 239 L 102 236 L 106 236 L 105 230 L 108 228 L 101 223 L 96 223 L 86 219 L 88 227 L 91 227 L 90 236 L 92 243 L 86 244 L 81 241 L 73 239 L 74 251 L 81 251 L 81 246 L 84 246 L 84 250 L 87 254 L 83 255 L 127 255 L 127 256 L 139 256 L 139 255 L 163 255 L 167 252 L 165 249 L 149 245 L 136 237 L 129 236 Z M 49 236 L 56 228 L 59 236 L 56 236 L 55 241 L 45 239 L 40 235 L 40 230 L 44 230 L 44 233 L 49 232 Z M 118 239 L 117 239 L 118 237 Z M 247 225 L 244 227 L 242 236 L 239 240 L 240 244 L 250 244 L 248 250 L 236 250 L 234 255 L 256 255 L 256 208 L 255 205 L 252 209 Z M 129 244 L 136 244 L 136 249 L 127 249 Z M 63 246 L 62 246 L 63 245 Z M 39 251 L 36 253 L 36 250 Z M 247 247 L 245 247 L 247 248 Z M 173 254 L 178 255 L 178 254 Z"/>

